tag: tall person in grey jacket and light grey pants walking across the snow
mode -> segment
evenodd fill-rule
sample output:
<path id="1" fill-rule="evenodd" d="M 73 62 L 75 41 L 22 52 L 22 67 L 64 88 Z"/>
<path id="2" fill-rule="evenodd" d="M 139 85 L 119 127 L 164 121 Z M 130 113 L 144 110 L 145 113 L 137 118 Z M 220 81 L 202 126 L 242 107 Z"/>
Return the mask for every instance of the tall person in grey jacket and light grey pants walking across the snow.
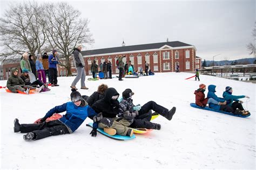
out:
<path id="1" fill-rule="evenodd" d="M 81 53 L 82 44 L 77 44 L 73 49 L 73 60 L 76 63 L 77 76 L 71 84 L 71 88 L 77 89 L 76 84 L 81 79 L 81 89 L 89 89 L 85 86 L 85 71 L 84 71 L 84 58 Z"/>

